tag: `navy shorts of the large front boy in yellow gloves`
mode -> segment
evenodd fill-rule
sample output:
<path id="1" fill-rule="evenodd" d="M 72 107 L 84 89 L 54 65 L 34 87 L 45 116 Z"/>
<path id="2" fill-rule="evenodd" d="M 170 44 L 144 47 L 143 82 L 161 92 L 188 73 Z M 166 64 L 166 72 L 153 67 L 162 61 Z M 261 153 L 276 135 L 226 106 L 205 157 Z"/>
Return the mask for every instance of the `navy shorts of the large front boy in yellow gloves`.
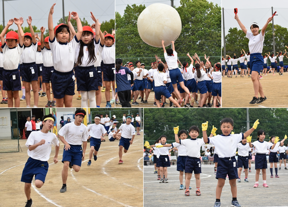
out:
<path id="1" fill-rule="evenodd" d="M 216 179 L 223 178 L 226 180 L 227 174 L 229 180 L 238 178 L 237 161 L 235 157 L 218 158 Z"/>

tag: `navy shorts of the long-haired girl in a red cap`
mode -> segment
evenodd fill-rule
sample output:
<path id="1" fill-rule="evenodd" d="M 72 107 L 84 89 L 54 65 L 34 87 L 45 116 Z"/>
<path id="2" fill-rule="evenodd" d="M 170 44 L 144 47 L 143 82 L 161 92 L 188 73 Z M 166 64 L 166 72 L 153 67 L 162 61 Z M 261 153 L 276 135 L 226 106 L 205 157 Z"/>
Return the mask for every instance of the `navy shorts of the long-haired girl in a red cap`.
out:
<path id="1" fill-rule="evenodd" d="M 77 91 L 98 90 L 97 70 L 94 66 L 75 67 Z"/>

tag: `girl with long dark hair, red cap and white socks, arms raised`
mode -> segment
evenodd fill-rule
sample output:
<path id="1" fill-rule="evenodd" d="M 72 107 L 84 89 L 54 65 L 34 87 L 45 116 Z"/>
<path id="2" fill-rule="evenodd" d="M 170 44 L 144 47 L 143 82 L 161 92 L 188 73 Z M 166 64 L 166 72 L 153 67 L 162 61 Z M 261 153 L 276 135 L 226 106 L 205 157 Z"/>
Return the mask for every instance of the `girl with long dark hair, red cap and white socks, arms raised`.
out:
<path id="1" fill-rule="evenodd" d="M 81 107 L 88 107 L 88 99 L 91 108 L 96 108 L 95 91 L 98 90 L 97 70 L 94 67 L 96 61 L 95 54 L 99 48 L 100 27 L 98 20 L 91 12 L 91 18 L 95 21 L 95 37 L 90 26 L 83 27 L 83 33 L 80 44 L 76 49 L 76 65 L 75 75 L 77 76 L 77 90 L 81 91 Z M 70 27 L 71 15 L 69 13 L 68 25 Z M 70 27 L 73 28 L 73 27 Z"/>

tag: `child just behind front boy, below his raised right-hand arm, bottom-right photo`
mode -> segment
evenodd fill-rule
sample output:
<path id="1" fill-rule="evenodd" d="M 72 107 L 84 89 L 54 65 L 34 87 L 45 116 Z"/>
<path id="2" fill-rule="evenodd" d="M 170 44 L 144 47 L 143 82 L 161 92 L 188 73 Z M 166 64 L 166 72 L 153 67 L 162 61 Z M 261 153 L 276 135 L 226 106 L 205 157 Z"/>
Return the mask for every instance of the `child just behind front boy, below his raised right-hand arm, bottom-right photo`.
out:
<path id="1" fill-rule="evenodd" d="M 238 168 L 238 179 L 237 182 L 241 182 L 241 171 L 242 167 L 244 167 L 245 170 L 245 179 L 244 182 L 248 181 L 248 154 L 249 154 L 249 144 L 247 144 L 247 139 L 242 139 L 238 144 L 238 160 L 237 160 L 237 168 Z"/>

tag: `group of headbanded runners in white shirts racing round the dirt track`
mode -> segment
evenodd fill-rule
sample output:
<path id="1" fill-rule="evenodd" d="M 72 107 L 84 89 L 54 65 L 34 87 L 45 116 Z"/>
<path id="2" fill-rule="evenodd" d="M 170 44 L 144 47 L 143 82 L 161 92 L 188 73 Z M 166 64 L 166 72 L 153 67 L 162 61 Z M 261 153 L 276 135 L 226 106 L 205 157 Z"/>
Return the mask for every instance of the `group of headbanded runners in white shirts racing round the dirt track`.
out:
<path id="1" fill-rule="evenodd" d="M 75 172 L 79 172 L 82 162 L 85 160 L 85 152 L 87 147 L 87 139 L 90 137 L 90 151 L 88 165 L 91 166 L 92 156 L 94 161 L 97 160 L 97 154 L 101 145 L 101 140 L 106 134 L 103 125 L 100 124 L 100 115 L 95 115 L 94 124 L 86 127 L 82 121 L 86 116 L 83 109 L 78 109 L 75 112 L 75 121 L 65 124 L 58 132 L 58 138 L 64 144 L 62 163 L 62 188 L 61 193 L 66 192 L 66 181 L 68 177 L 68 168 L 73 168 Z M 125 124 L 122 124 L 117 130 L 115 126 L 111 127 L 109 133 L 110 141 L 119 140 L 119 163 L 123 164 L 123 151 L 126 153 L 130 144 L 133 143 L 135 136 L 135 128 L 131 125 L 132 117 L 126 116 Z M 41 188 L 45 182 L 48 172 L 48 160 L 50 158 L 52 144 L 55 146 L 54 163 L 58 162 L 59 140 L 50 130 L 53 129 L 55 118 L 52 114 L 42 118 L 42 129 L 40 131 L 31 132 L 25 145 L 28 147 L 28 161 L 23 169 L 21 181 L 25 183 L 24 191 L 27 197 L 25 207 L 32 206 L 33 202 L 30 196 L 31 182 L 35 176 L 35 186 Z M 116 132 L 115 132 L 116 131 Z M 64 138 L 65 137 L 65 138 Z M 113 140 L 114 139 L 114 140 Z M 82 148 L 83 144 L 83 148 Z M 124 148 L 124 150 L 123 150 Z"/>

